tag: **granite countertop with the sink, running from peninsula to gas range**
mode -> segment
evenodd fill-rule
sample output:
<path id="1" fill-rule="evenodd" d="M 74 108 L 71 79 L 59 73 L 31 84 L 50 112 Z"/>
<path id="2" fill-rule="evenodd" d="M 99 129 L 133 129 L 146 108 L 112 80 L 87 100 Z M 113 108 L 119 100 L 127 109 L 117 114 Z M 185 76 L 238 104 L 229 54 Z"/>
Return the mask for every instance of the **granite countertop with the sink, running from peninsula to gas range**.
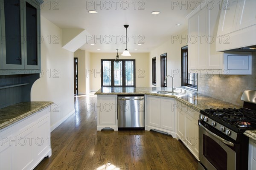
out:
<path id="1" fill-rule="evenodd" d="M 100 88 L 99 91 L 97 91 L 95 94 L 147 94 L 147 95 L 154 95 L 154 96 L 164 96 L 164 97 L 173 97 L 177 99 L 177 101 L 182 102 L 192 108 L 194 108 L 196 111 L 200 111 L 203 109 L 209 109 L 209 108 L 242 108 L 242 106 L 233 105 L 229 102 L 224 102 L 219 99 L 215 99 L 203 94 L 199 94 L 195 91 L 189 91 L 187 89 L 183 88 L 177 88 L 175 91 L 180 91 L 182 89 L 183 91 L 186 90 L 186 94 L 180 95 L 180 96 L 172 96 L 172 95 L 166 95 L 166 94 L 154 94 L 151 93 L 152 91 L 172 91 L 172 88 L 160 88 L 160 87 L 151 87 L 151 88 L 133 88 L 133 87 L 104 87 Z"/>

